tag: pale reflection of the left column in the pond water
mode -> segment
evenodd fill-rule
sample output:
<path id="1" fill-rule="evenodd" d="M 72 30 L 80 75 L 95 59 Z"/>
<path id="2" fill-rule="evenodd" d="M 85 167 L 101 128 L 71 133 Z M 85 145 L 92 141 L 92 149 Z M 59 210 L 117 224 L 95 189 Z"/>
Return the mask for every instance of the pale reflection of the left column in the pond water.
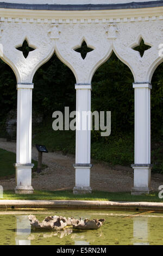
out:
<path id="1" fill-rule="evenodd" d="M 31 226 L 27 215 L 17 215 L 16 245 L 30 245 Z"/>

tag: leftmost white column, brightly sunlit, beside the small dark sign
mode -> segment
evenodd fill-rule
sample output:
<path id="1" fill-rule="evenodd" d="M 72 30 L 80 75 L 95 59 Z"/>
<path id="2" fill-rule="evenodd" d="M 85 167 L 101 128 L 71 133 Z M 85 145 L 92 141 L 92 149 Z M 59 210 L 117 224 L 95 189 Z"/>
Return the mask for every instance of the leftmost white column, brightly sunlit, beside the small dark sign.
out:
<path id="1" fill-rule="evenodd" d="M 33 193 L 32 168 L 32 89 L 31 83 L 17 84 L 17 139 L 15 193 Z"/>

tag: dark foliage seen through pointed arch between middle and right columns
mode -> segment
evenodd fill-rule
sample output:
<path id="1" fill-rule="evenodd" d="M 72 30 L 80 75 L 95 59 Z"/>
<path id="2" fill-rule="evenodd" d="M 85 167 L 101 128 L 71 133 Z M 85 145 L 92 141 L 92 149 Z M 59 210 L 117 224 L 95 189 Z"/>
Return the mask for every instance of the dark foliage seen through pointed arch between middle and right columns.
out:
<path id="1" fill-rule="evenodd" d="M 92 79 L 92 112 L 111 111 L 111 134 L 108 137 L 101 137 L 100 131 L 92 131 L 91 157 L 105 161 L 109 166 L 116 166 L 115 169 L 119 166 L 127 170 L 131 162 L 134 162 L 133 82 L 132 72 L 114 52 L 96 70 Z M 105 174 L 106 179 L 107 175 Z M 127 180 L 130 180 L 130 176 Z M 118 182 L 121 184 L 120 180 Z M 108 184 L 103 185 L 109 191 Z M 131 185 L 125 186 L 130 190 Z"/>

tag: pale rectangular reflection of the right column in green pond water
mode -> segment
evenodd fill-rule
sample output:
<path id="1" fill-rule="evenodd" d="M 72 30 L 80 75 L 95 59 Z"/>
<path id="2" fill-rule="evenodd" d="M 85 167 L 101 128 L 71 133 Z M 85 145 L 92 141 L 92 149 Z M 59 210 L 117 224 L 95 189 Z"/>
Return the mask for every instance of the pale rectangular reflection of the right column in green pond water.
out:
<path id="1" fill-rule="evenodd" d="M 133 218 L 133 245 L 148 245 L 148 218 Z"/>

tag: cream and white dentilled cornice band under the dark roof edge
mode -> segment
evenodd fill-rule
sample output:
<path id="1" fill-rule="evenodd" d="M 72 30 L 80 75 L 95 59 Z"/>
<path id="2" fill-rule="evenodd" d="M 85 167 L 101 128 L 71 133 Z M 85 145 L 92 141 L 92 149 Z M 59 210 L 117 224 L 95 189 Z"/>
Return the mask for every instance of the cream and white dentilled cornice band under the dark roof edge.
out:
<path id="1" fill-rule="evenodd" d="M 163 1 L 162 1 L 163 2 Z M 163 4 L 162 4 L 163 5 Z M 54 15 L 55 14 L 55 15 Z M 163 20 L 163 6 L 142 9 L 87 11 L 25 10 L 0 8 L 1 22 L 21 23 L 120 23 Z M 54 19 L 55 17 L 55 19 Z"/>

